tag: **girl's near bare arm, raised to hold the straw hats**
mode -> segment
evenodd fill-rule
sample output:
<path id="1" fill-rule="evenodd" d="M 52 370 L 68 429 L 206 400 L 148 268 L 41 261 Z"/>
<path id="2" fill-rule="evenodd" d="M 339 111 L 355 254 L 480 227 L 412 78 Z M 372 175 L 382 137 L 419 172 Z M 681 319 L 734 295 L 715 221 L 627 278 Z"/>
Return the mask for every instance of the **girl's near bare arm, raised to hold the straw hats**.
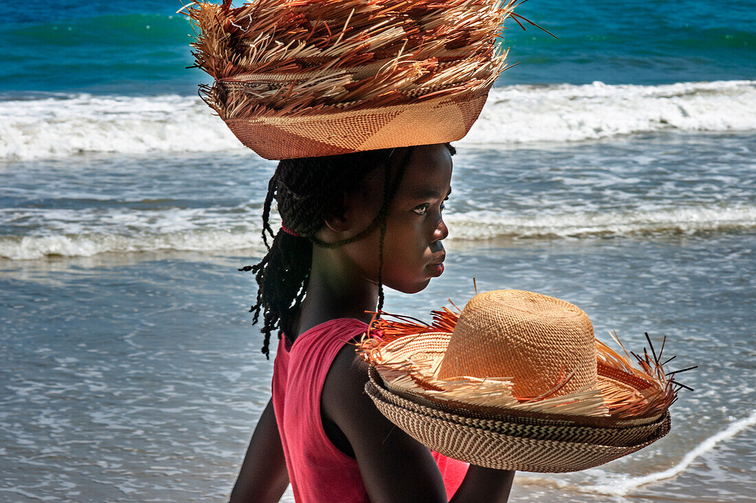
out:
<path id="1" fill-rule="evenodd" d="M 355 453 L 371 501 L 447 501 L 426 446 L 386 419 L 364 393 L 367 364 L 346 345 L 331 365 L 321 397 L 327 419 Z M 470 466 L 451 501 L 507 501 L 513 471 Z"/>

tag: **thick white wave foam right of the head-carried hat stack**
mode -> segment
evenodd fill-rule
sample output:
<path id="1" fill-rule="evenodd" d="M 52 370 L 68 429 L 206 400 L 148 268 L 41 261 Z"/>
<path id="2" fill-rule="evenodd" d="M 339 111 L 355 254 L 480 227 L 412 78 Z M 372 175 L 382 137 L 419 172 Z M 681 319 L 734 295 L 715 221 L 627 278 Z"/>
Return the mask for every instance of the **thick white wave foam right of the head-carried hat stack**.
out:
<path id="1" fill-rule="evenodd" d="M 494 88 L 460 143 L 580 141 L 665 129 L 756 129 L 756 81 Z"/>

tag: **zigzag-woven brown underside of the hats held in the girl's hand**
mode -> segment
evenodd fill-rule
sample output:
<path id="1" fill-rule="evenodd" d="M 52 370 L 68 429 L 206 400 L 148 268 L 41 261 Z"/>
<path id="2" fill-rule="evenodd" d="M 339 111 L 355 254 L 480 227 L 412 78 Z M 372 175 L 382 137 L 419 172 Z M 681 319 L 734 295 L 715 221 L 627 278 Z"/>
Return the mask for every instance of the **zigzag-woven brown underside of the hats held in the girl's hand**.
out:
<path id="1" fill-rule="evenodd" d="M 538 473 L 585 470 L 643 449 L 670 430 L 668 412 L 652 425 L 629 427 L 621 433 L 574 426 L 532 424 L 522 427 L 503 420 L 482 423 L 476 418 L 445 414 L 400 397 L 388 399 L 390 392 L 380 386 L 374 371 L 365 391 L 389 421 L 429 449 L 497 470 Z M 611 443 L 627 445 L 596 443 L 607 437 L 612 439 Z"/>

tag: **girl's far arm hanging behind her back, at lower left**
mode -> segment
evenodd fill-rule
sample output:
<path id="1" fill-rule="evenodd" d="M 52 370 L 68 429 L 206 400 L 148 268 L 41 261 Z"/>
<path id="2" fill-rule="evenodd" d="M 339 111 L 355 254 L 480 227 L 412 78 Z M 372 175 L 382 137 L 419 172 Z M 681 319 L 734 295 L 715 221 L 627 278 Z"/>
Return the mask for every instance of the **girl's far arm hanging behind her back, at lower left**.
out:
<path id="1" fill-rule="evenodd" d="M 289 473 L 271 401 L 249 440 L 231 501 L 278 501 L 288 485 Z"/>

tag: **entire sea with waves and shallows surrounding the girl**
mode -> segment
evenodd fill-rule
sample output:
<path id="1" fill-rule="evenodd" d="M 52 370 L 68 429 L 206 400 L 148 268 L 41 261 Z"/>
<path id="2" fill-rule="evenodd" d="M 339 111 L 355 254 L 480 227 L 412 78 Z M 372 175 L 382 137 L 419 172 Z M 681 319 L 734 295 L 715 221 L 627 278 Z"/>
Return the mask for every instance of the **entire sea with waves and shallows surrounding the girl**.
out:
<path id="1" fill-rule="evenodd" d="M 268 400 L 241 265 L 274 163 L 197 98 L 178 2 L 14 2 L 0 20 L 0 501 L 222 501 Z M 673 430 L 513 501 L 752 501 L 756 0 L 530 0 L 457 143 L 448 267 L 643 332 L 696 388 Z M 288 494 L 283 501 L 293 501 Z"/>

